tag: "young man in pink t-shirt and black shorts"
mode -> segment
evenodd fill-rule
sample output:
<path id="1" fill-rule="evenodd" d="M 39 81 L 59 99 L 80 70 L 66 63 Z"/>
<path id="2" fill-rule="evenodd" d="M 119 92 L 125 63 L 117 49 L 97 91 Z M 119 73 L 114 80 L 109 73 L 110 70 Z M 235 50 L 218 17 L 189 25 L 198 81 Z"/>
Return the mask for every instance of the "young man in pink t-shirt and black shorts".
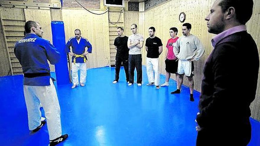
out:
<path id="1" fill-rule="evenodd" d="M 166 56 L 165 56 L 165 70 L 166 70 L 166 78 L 165 83 L 161 85 L 163 86 L 169 86 L 169 79 L 170 74 L 175 73 L 176 80 L 178 79 L 178 58 L 173 53 L 173 45 L 178 40 L 179 37 L 177 37 L 178 29 L 176 27 L 170 28 L 170 39 L 167 42 L 166 45 Z"/>

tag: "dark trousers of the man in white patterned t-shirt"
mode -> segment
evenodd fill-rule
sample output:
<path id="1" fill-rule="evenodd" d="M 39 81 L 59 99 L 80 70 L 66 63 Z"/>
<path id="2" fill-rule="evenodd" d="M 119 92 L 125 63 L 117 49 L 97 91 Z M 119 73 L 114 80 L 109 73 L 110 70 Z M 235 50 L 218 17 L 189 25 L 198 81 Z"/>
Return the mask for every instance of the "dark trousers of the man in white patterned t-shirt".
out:
<path id="1" fill-rule="evenodd" d="M 142 54 L 129 55 L 129 82 L 134 83 L 134 68 L 137 71 L 137 83 L 142 83 Z"/>

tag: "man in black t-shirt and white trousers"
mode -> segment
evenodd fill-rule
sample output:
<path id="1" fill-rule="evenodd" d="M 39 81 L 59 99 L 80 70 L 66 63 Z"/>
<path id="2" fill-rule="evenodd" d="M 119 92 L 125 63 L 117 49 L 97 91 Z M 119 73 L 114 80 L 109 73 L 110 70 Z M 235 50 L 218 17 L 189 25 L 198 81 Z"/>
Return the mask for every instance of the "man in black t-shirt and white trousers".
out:
<path id="1" fill-rule="evenodd" d="M 155 85 L 156 89 L 160 89 L 159 55 L 163 52 L 163 44 L 160 38 L 155 37 L 154 27 L 149 28 L 149 35 L 150 37 L 145 42 L 147 51 L 146 72 L 149 81 L 147 86 Z M 155 75 L 153 75 L 153 72 Z"/>

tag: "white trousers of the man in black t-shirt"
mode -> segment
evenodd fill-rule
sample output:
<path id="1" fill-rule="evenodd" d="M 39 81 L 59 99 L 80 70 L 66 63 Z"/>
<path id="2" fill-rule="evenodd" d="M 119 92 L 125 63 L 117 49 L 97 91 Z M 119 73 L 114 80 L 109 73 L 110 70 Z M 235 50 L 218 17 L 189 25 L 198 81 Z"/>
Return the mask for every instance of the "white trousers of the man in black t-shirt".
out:
<path id="1" fill-rule="evenodd" d="M 149 83 L 155 83 L 155 86 L 159 86 L 160 74 L 159 74 L 159 58 L 146 58 L 146 72 Z M 154 75 L 153 75 L 154 72 Z"/>

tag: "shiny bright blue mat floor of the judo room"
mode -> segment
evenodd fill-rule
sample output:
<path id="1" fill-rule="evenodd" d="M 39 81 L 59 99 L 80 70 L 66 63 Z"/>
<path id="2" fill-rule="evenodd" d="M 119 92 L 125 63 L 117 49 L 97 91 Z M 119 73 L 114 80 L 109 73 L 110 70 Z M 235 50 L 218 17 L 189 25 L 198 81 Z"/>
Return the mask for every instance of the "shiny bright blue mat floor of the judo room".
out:
<path id="1" fill-rule="evenodd" d="M 70 84 L 55 83 L 62 131 L 69 134 L 60 146 L 195 145 L 199 92 L 194 92 L 195 101 L 190 102 L 186 86 L 182 86 L 181 94 L 170 94 L 176 89 L 174 80 L 159 90 L 146 86 L 145 67 L 141 87 L 136 83 L 127 86 L 123 68 L 119 82 L 112 84 L 114 74 L 115 68 L 93 68 L 87 71 L 84 87 L 71 89 Z M 46 146 L 47 125 L 33 135 L 28 129 L 22 81 L 22 75 L 0 77 L 0 145 Z M 160 83 L 164 81 L 165 76 L 161 75 Z M 259 146 L 260 123 L 251 119 L 251 124 L 249 146 Z"/>

